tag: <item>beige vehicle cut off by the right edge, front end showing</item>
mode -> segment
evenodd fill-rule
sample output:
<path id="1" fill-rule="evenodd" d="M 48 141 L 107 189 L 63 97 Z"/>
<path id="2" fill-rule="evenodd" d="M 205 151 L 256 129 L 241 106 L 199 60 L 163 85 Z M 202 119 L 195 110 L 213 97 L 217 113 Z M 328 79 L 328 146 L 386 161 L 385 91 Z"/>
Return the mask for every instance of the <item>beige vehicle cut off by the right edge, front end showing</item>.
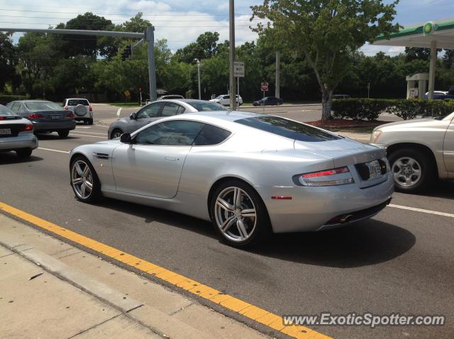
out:
<path id="1" fill-rule="evenodd" d="M 399 191 L 419 191 L 433 179 L 454 178 L 454 113 L 387 123 L 375 128 L 370 142 L 387 147 Z"/>

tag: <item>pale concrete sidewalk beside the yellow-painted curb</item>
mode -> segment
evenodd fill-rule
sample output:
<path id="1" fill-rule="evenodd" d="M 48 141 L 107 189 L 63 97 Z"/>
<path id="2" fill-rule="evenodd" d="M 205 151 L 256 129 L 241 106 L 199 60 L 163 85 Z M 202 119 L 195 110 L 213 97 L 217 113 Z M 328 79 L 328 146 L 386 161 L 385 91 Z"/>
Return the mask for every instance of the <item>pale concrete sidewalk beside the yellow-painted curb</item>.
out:
<path id="1" fill-rule="evenodd" d="M 0 214 L 0 338 L 267 338 Z"/>

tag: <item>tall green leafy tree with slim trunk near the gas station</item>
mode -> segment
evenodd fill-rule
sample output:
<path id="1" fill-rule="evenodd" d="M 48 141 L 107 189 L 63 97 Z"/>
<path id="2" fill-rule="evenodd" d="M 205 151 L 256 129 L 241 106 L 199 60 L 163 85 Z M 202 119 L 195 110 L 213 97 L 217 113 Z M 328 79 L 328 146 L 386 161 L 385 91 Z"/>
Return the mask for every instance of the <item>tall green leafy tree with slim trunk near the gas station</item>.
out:
<path id="1" fill-rule="evenodd" d="M 274 35 L 287 48 L 301 53 L 316 74 L 322 94 L 322 120 L 331 118 L 333 91 L 352 68 L 352 53 L 377 35 L 393 33 L 398 0 L 265 0 L 252 6 L 260 35 Z"/>

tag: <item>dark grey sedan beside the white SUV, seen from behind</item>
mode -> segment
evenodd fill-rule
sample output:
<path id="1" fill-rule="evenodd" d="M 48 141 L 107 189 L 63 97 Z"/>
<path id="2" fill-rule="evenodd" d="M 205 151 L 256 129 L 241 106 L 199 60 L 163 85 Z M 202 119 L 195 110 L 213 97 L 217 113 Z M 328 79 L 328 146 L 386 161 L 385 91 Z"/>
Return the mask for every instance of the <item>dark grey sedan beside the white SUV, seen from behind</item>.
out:
<path id="1" fill-rule="evenodd" d="M 60 138 L 66 138 L 70 130 L 76 128 L 74 113 L 62 109 L 52 101 L 11 101 L 6 106 L 18 116 L 30 120 L 35 134 L 57 132 Z"/>

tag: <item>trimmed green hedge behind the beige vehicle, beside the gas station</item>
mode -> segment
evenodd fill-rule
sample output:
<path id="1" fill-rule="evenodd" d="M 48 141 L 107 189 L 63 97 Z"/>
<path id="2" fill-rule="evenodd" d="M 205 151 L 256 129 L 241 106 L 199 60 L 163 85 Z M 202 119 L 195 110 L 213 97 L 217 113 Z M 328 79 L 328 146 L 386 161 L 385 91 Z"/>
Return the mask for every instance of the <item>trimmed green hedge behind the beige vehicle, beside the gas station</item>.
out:
<path id="1" fill-rule="evenodd" d="M 416 116 L 444 116 L 454 111 L 454 100 L 423 99 L 341 99 L 333 100 L 333 117 L 353 120 L 376 120 L 387 112 L 404 120 Z"/>

